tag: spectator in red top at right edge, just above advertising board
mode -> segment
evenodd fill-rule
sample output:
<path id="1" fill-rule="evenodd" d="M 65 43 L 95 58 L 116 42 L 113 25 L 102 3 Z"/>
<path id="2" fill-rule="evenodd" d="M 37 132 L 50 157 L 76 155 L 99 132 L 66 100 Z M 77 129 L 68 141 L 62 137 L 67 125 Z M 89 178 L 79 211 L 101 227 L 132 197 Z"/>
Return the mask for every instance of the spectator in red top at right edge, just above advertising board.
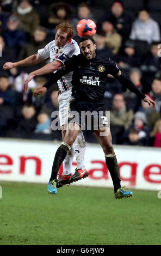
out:
<path id="1" fill-rule="evenodd" d="M 150 133 L 151 138 L 153 138 L 152 145 L 156 148 L 161 147 L 161 119 L 159 119 L 154 125 L 154 129 Z"/>

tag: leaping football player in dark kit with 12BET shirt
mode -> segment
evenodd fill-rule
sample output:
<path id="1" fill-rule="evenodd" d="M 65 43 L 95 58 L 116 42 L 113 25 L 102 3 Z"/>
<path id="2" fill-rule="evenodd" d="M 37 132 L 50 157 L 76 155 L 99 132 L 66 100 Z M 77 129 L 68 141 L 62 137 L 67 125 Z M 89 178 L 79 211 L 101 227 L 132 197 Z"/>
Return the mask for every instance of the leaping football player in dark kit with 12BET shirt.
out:
<path id="1" fill-rule="evenodd" d="M 116 155 L 114 153 L 112 144 L 112 135 L 106 115 L 103 113 L 103 97 L 106 90 L 107 75 L 113 75 L 123 86 L 126 86 L 131 92 L 135 93 L 140 99 L 153 105 L 156 108 L 156 103 L 150 98 L 141 93 L 134 84 L 127 78 L 121 75 L 121 71 L 113 62 L 107 57 L 97 56 L 96 44 L 91 37 L 80 39 L 80 50 L 82 54 L 73 56 L 66 60 L 64 69 L 53 74 L 53 80 L 46 83 L 43 87 L 34 90 L 34 96 L 44 94 L 49 86 L 62 77 L 67 72 L 73 71 L 72 76 L 72 96 L 73 100 L 70 104 L 71 113 L 69 115 L 69 124 L 67 127 L 66 136 L 55 153 L 54 162 L 52 166 L 51 178 L 48 183 L 48 192 L 50 194 L 57 194 L 57 173 L 61 163 L 65 159 L 67 152 L 72 144 L 75 142 L 77 134 L 82 127 L 82 115 L 84 111 L 95 112 L 92 122 L 92 131 L 101 144 L 105 154 L 107 168 L 113 180 L 114 197 L 125 198 L 131 197 L 132 192 L 121 187 L 121 178 L 119 166 L 117 164 Z M 101 116 L 99 115 L 101 112 Z M 79 113 L 79 120 L 76 118 L 76 113 Z M 102 115 L 103 113 L 103 115 Z M 97 127 L 94 127 L 95 120 L 99 121 Z M 70 182 L 79 179 L 79 172 L 76 170 Z"/>

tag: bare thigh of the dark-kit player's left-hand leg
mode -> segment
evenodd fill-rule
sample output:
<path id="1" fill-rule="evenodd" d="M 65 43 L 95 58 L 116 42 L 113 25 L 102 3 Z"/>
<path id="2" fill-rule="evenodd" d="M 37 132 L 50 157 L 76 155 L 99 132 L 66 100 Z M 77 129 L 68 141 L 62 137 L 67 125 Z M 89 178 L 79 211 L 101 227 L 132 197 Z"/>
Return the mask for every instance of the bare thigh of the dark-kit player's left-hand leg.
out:
<path id="1" fill-rule="evenodd" d="M 77 135 L 80 131 L 79 125 L 75 123 L 69 123 L 66 126 L 66 132 L 63 141 L 72 147 L 75 142 Z"/>

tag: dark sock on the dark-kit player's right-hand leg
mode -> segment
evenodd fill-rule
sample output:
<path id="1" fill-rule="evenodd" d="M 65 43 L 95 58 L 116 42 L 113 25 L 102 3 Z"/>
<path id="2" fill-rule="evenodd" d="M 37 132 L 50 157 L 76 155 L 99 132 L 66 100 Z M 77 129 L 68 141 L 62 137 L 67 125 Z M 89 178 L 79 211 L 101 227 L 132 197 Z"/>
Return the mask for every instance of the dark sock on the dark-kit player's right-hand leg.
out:
<path id="1" fill-rule="evenodd" d="M 106 156 L 106 165 L 109 170 L 109 173 L 113 180 L 114 185 L 114 193 L 121 187 L 121 178 L 120 178 L 120 170 L 117 163 L 116 155 L 114 156 Z"/>

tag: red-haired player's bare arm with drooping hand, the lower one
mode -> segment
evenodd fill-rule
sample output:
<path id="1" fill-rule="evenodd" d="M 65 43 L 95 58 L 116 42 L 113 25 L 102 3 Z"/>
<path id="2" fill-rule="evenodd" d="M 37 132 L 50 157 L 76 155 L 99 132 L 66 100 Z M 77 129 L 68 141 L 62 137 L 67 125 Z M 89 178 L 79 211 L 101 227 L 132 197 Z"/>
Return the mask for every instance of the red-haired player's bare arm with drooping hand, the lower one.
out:
<path id="1" fill-rule="evenodd" d="M 54 60 L 52 63 L 48 63 L 45 66 L 43 66 L 41 69 L 37 69 L 33 72 L 31 72 L 28 77 L 26 78 L 26 81 L 24 82 L 23 90 L 27 91 L 28 90 L 28 83 L 31 81 L 35 76 L 41 76 L 41 75 L 47 75 L 62 66 L 63 63 L 60 62 L 59 60 Z"/>

